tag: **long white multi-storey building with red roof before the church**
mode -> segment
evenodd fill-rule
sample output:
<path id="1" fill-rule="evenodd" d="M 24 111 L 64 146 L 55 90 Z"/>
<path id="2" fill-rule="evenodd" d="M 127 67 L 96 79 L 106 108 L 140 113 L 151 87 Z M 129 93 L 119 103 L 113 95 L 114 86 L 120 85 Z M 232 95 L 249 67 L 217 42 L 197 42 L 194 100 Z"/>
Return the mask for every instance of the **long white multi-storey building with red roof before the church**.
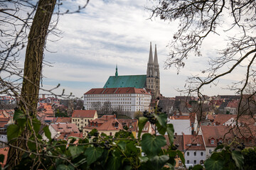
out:
<path id="1" fill-rule="evenodd" d="M 105 108 L 129 116 L 137 111 L 149 111 L 150 101 L 149 92 L 134 87 L 90 89 L 84 94 L 85 110 Z"/>

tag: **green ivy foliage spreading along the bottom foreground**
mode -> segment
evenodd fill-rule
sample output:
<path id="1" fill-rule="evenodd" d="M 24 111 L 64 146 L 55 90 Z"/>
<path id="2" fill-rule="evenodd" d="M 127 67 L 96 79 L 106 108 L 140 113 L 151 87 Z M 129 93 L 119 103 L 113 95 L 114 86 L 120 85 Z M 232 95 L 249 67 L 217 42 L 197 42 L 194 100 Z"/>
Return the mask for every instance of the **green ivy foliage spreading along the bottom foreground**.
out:
<path id="1" fill-rule="evenodd" d="M 7 130 L 9 142 L 16 141 L 26 127 L 32 134 L 27 142 L 28 151 L 24 152 L 21 163 L 15 169 L 174 169 L 176 157 L 185 164 L 183 152 L 174 146 L 174 126 L 166 124 L 166 114 L 144 113 L 146 117 L 139 118 L 139 137 L 134 138 L 129 130 L 120 130 L 114 137 L 100 134 L 96 129 L 87 137 L 78 139 L 69 137 L 68 141 L 51 139 L 48 126 L 42 128 L 48 140 L 42 140 L 41 123 L 36 118 L 28 119 L 21 111 L 16 111 L 16 124 Z M 160 135 L 142 134 L 146 122 L 154 125 Z M 167 133 L 170 146 L 166 146 Z M 39 154 L 38 154 L 39 153 Z M 250 159 L 250 155 L 252 158 Z M 248 160 L 244 166 L 244 157 Z M 4 156 L 0 155 L 0 162 Z M 205 162 L 205 169 L 255 169 L 252 163 L 256 159 L 256 149 L 239 149 L 218 145 L 210 159 Z M 246 167 L 246 168 L 245 168 Z M 196 165 L 193 170 L 203 169 Z"/>

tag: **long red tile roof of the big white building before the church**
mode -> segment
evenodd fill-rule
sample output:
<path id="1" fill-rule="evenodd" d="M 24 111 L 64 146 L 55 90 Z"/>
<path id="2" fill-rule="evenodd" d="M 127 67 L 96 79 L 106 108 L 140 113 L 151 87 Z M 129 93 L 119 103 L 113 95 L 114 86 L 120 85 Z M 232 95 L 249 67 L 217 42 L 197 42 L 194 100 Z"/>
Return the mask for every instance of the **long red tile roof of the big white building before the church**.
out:
<path id="1" fill-rule="evenodd" d="M 85 94 L 149 94 L 144 89 L 137 89 L 134 87 L 120 87 L 120 88 L 101 88 L 90 89 Z"/>

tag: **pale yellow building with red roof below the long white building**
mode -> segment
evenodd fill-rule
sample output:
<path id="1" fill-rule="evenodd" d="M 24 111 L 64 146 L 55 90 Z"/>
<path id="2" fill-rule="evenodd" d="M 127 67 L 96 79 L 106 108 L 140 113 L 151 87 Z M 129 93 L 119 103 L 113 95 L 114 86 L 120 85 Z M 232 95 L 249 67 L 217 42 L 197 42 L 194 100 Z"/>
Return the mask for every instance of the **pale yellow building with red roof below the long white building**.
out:
<path id="1" fill-rule="evenodd" d="M 97 119 L 97 111 L 95 110 L 74 110 L 72 114 L 72 123 L 75 123 L 79 130 L 88 125 L 90 120 L 95 119 Z"/>

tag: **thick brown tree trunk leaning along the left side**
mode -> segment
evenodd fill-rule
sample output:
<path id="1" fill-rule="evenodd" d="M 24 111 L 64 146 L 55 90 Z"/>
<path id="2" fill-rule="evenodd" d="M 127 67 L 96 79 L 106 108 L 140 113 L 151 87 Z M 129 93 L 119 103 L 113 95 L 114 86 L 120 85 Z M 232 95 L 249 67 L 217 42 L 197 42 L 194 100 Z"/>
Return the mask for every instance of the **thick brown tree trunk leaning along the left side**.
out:
<path id="1" fill-rule="evenodd" d="M 31 118 L 36 118 L 36 108 L 43 63 L 43 50 L 46 44 L 48 27 L 53 15 L 55 3 L 56 0 L 38 1 L 38 8 L 28 35 L 19 108 Z M 28 139 L 30 136 L 31 132 L 25 128 L 21 137 Z M 12 145 L 22 149 L 28 149 L 26 140 L 18 140 Z M 23 152 L 20 149 L 10 147 L 6 162 L 6 165 L 9 165 L 8 169 L 13 169 L 14 166 L 18 165 L 21 161 L 22 155 Z"/>

